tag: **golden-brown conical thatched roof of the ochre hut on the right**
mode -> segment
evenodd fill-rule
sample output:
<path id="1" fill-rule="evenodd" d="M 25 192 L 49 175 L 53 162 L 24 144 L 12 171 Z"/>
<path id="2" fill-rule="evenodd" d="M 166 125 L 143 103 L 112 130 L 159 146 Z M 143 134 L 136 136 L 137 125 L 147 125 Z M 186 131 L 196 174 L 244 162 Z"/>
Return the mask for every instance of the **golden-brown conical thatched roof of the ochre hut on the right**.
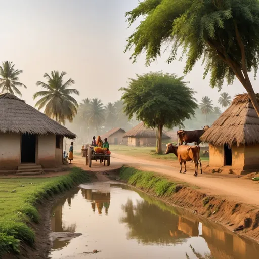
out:
<path id="1" fill-rule="evenodd" d="M 259 101 L 259 94 L 256 94 Z M 201 136 L 214 146 L 259 144 L 259 117 L 248 94 L 237 95 L 230 107 Z"/>

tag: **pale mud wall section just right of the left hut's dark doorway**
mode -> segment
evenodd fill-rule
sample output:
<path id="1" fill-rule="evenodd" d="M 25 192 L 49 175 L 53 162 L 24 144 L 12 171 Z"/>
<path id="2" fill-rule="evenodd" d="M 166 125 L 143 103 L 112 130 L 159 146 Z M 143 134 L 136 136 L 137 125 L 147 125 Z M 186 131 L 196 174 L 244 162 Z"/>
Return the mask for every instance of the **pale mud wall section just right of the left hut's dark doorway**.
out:
<path id="1" fill-rule="evenodd" d="M 62 152 L 62 149 L 60 149 Z M 38 159 L 37 163 L 43 168 L 56 167 L 56 136 L 38 136 Z"/>

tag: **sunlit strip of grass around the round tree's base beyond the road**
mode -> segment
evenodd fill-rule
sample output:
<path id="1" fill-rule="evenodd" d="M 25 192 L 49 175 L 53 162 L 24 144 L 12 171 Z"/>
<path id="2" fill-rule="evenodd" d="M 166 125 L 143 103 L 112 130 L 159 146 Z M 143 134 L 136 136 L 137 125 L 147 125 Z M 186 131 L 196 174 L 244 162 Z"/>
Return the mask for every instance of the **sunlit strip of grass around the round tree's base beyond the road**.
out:
<path id="1" fill-rule="evenodd" d="M 127 155 L 127 156 L 142 156 L 147 158 L 154 158 L 154 159 L 162 159 L 162 160 L 177 160 L 177 157 L 174 154 L 155 154 L 156 150 L 155 147 L 131 147 L 126 145 L 110 145 L 111 152 Z M 165 152 L 166 147 L 163 147 L 163 153 Z M 200 158 L 202 161 L 209 161 L 209 157 L 204 157 L 202 151 L 200 153 Z"/>

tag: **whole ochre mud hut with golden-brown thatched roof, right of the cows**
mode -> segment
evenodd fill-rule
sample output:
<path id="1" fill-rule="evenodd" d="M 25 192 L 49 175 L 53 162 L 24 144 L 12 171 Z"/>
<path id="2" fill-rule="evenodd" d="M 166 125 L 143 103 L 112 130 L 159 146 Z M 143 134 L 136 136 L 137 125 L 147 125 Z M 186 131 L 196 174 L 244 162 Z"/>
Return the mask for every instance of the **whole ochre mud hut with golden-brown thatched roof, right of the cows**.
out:
<path id="1" fill-rule="evenodd" d="M 210 166 L 259 168 L 259 118 L 248 94 L 237 95 L 201 140 L 209 143 Z"/>

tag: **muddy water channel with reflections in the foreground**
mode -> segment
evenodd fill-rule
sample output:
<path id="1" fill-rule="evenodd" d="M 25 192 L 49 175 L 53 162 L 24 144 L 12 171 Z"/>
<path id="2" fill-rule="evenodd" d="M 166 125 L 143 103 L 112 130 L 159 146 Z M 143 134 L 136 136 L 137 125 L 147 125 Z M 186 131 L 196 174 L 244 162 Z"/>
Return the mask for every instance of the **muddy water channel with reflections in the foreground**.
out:
<path id="1" fill-rule="evenodd" d="M 259 245 L 126 185 L 80 185 L 53 208 L 51 257 L 255 259 Z M 91 253 L 93 250 L 100 251 Z"/>

